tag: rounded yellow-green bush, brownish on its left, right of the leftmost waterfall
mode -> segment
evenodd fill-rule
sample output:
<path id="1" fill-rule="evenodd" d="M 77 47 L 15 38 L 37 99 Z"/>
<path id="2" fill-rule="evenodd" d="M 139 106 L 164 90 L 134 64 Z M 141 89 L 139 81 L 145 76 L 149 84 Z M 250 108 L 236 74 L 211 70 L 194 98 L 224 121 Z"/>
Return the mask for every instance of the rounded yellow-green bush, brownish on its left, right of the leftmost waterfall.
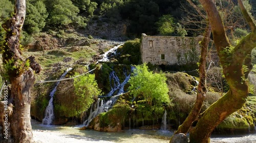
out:
<path id="1" fill-rule="evenodd" d="M 77 76 L 75 73 L 74 76 Z M 100 94 L 94 74 L 87 74 L 69 80 L 61 81 L 56 93 L 55 111 L 59 116 L 78 117 L 93 103 Z M 61 89 L 61 90 L 60 90 Z"/>

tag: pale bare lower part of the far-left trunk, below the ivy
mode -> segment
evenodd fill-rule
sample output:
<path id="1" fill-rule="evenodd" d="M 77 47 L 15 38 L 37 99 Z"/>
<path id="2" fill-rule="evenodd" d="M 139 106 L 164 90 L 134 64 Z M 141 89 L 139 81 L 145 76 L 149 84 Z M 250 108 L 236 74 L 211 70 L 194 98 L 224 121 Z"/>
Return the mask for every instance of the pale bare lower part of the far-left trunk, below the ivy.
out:
<path id="1" fill-rule="evenodd" d="M 13 114 L 11 116 L 11 133 L 14 142 L 32 142 L 32 127 L 30 123 L 31 88 L 35 77 L 33 70 L 29 69 L 22 76 L 11 82 L 11 95 L 13 96 Z"/>

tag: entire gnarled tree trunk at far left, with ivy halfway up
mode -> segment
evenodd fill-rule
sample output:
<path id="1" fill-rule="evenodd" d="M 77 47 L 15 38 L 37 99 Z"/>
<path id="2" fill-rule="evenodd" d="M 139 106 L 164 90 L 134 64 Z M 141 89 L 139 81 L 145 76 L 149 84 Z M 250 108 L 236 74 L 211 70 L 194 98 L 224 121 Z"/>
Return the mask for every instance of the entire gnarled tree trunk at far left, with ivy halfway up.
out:
<path id="1" fill-rule="evenodd" d="M 33 137 L 30 123 L 30 91 L 35 81 L 33 70 L 38 73 L 40 66 L 33 61 L 33 57 L 27 60 L 22 57 L 19 37 L 25 14 L 26 1 L 16 0 L 13 17 L 2 24 L 6 31 L 6 42 L 3 46 L 4 72 L 5 78 L 11 84 L 8 106 L 10 110 L 13 108 L 13 113 L 8 116 L 8 139 L 4 138 L 3 134 L 0 138 L 3 142 L 32 142 Z"/>

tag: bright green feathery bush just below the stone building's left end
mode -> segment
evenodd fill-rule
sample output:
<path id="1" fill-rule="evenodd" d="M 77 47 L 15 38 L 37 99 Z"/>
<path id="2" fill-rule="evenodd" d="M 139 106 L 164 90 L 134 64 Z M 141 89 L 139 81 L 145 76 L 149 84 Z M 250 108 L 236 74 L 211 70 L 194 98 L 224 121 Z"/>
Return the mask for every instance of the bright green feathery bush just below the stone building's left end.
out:
<path id="1" fill-rule="evenodd" d="M 149 71 L 146 64 L 136 66 L 129 83 L 131 94 L 142 95 L 147 105 L 170 103 L 165 75 Z"/>

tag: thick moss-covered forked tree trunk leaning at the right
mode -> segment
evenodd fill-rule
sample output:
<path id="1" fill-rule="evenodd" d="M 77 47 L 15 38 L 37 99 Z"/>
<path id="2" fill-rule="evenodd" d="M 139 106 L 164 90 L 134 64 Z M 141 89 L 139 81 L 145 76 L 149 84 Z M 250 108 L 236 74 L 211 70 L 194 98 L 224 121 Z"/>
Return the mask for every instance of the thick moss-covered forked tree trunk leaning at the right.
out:
<path id="1" fill-rule="evenodd" d="M 204 7 L 212 25 L 214 42 L 230 89 L 223 97 L 199 115 L 189 134 L 191 143 L 209 142 L 212 130 L 227 116 L 244 105 L 249 90 L 243 64 L 246 56 L 256 46 L 256 31 L 255 28 L 251 28 L 252 32 L 244 37 L 236 47 L 232 48 L 226 37 L 225 29 L 214 1 L 200 0 L 200 3 Z M 245 18 L 248 21 L 248 17 L 245 16 Z M 255 24 L 250 23 L 250 27 L 255 27 Z"/>

